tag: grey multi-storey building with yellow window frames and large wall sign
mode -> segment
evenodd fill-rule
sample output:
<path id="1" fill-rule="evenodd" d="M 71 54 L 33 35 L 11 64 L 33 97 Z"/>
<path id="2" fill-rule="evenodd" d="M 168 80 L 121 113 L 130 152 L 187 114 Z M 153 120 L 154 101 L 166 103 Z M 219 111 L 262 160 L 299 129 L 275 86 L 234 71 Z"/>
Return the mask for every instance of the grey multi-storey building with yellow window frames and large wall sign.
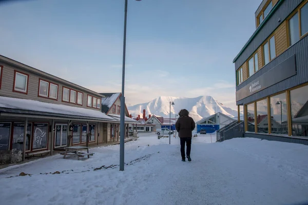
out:
<path id="1" fill-rule="evenodd" d="M 244 136 L 308 145 L 308 0 L 263 0 L 255 19 L 233 61 Z"/>

